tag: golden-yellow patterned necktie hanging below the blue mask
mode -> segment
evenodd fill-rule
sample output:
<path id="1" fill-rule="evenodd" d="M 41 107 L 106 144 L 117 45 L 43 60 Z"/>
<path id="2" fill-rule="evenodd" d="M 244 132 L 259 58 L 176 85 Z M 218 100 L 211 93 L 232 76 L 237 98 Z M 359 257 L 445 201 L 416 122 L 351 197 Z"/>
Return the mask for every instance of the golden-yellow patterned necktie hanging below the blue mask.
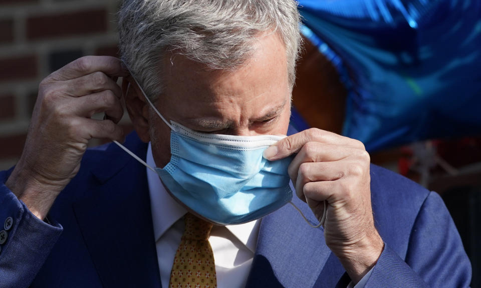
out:
<path id="1" fill-rule="evenodd" d="M 182 234 L 170 272 L 169 288 L 215 288 L 214 254 L 209 243 L 212 223 L 185 214 Z"/>

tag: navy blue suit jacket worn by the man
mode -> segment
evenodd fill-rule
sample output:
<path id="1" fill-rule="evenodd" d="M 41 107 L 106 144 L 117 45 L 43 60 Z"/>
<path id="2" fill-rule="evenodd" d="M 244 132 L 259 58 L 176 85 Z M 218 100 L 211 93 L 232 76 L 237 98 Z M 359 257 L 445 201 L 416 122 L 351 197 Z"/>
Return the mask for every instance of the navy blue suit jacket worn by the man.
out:
<path id="1" fill-rule="evenodd" d="M 147 144 L 135 133 L 126 146 L 145 159 Z M 10 172 L 0 172 L 0 223 L 14 219 L 0 245 L 0 287 L 161 287 L 142 164 L 115 144 L 89 149 L 52 206 L 50 224 L 3 184 Z M 469 285 L 469 260 L 436 193 L 375 165 L 371 191 L 385 247 L 366 288 Z M 349 281 L 323 229 L 308 226 L 291 205 L 262 219 L 248 287 L 346 287 Z"/>

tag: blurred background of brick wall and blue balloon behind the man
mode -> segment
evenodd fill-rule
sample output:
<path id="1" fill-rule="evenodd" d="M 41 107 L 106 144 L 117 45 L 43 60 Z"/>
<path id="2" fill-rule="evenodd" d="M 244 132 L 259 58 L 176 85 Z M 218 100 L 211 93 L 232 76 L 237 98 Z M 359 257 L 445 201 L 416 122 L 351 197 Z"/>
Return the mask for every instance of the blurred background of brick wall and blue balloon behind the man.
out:
<path id="1" fill-rule="evenodd" d="M 45 76 L 117 55 L 119 3 L 0 0 L 0 169 L 20 157 Z M 481 287 L 481 0 L 300 0 L 300 11 L 291 123 L 357 138 L 373 163 L 441 194 Z"/>

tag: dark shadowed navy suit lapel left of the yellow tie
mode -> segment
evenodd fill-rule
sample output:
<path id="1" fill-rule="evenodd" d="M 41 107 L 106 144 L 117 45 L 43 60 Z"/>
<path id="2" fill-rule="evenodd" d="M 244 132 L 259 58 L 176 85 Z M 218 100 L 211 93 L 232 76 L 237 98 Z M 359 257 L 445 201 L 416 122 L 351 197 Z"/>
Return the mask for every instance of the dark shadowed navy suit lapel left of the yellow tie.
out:
<path id="1" fill-rule="evenodd" d="M 126 145 L 145 159 L 146 145 Z M 160 287 L 146 170 L 115 144 L 92 169 L 91 197 L 74 204 L 87 248 L 104 287 Z M 102 163 L 102 160 L 105 162 Z"/>

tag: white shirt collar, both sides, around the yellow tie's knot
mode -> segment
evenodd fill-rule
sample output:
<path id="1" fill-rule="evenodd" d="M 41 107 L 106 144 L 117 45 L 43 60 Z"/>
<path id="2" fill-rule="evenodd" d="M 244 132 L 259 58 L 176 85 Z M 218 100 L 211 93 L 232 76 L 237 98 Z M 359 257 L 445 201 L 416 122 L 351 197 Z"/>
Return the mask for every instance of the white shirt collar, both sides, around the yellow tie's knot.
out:
<path id="1" fill-rule="evenodd" d="M 147 149 L 147 164 L 156 167 L 152 146 L 149 143 Z M 150 209 L 152 211 L 152 223 L 154 228 L 155 241 L 167 231 L 187 210 L 170 196 L 165 190 L 162 181 L 157 173 L 147 169 L 147 182 L 150 194 Z M 244 243 L 252 252 L 256 252 L 257 236 L 261 220 L 254 220 L 244 224 L 226 225 L 227 230 L 240 242 Z"/>

